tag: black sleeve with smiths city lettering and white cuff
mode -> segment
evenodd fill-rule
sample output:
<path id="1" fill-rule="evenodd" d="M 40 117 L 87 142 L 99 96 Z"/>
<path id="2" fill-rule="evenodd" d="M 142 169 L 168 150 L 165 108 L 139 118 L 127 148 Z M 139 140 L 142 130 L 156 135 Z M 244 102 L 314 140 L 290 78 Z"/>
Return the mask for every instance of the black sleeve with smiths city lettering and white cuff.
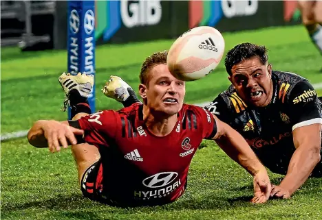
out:
<path id="1" fill-rule="evenodd" d="M 308 81 L 298 82 L 288 95 L 292 130 L 315 123 L 322 124 L 321 107 L 316 91 Z"/>

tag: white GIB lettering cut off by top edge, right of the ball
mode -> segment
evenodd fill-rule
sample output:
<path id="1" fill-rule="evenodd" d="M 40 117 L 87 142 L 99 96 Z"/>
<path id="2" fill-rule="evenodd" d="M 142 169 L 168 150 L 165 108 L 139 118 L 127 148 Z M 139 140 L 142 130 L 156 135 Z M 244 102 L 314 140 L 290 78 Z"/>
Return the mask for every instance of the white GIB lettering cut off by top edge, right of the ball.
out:
<path id="1" fill-rule="evenodd" d="M 236 16 L 250 16 L 257 12 L 258 0 L 241 0 L 228 1 L 222 0 L 222 12 L 226 18 L 233 18 Z"/>

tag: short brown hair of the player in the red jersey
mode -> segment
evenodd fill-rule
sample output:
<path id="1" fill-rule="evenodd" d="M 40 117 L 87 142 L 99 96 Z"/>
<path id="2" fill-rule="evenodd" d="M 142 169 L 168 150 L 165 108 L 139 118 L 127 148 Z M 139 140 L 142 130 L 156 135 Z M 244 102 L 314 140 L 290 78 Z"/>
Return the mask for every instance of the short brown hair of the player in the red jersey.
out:
<path id="1" fill-rule="evenodd" d="M 140 82 L 142 84 L 147 84 L 148 74 L 150 69 L 157 64 L 167 64 L 168 51 L 161 51 L 153 53 L 151 56 L 147 57 L 141 67 L 140 71 Z"/>

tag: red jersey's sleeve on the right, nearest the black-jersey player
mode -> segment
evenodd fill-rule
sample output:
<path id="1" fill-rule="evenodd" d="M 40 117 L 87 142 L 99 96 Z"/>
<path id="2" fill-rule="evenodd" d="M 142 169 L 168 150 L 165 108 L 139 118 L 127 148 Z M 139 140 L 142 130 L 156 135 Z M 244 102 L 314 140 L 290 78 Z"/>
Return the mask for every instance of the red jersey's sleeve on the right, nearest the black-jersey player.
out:
<path id="1" fill-rule="evenodd" d="M 204 108 L 197 106 L 194 106 L 194 108 L 197 116 L 197 125 L 201 125 L 202 138 L 212 139 L 217 134 L 217 124 L 213 115 Z"/>

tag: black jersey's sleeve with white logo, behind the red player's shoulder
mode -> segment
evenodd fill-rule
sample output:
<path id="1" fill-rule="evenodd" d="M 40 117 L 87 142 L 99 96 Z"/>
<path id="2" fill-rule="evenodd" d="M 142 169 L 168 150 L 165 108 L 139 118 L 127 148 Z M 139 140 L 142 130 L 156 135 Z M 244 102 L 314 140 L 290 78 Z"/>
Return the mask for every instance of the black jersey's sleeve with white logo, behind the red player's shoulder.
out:
<path id="1" fill-rule="evenodd" d="M 218 95 L 213 101 L 211 101 L 211 103 L 208 104 L 208 106 L 205 106 L 204 109 L 215 114 L 220 121 L 224 121 L 229 124 L 231 118 L 229 117 L 229 114 L 231 110 L 228 103 L 224 101 L 224 98 L 221 95 Z"/>

